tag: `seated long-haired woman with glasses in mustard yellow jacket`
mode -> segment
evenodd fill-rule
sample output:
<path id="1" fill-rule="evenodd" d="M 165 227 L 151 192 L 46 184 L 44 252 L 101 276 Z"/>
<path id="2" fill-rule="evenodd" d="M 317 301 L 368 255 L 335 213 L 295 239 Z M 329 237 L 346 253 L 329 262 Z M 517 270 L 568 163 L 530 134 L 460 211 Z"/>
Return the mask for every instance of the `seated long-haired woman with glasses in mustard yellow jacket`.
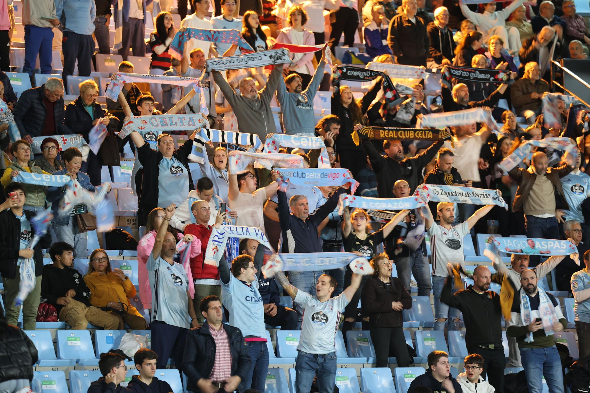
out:
<path id="1" fill-rule="evenodd" d="M 129 303 L 129 298 L 136 294 L 135 286 L 121 269 L 111 268 L 109 257 L 101 248 L 90 254 L 84 282 L 90 289 L 90 304 L 116 316 L 117 329 L 124 329 L 127 324 L 133 330 L 145 330 L 145 318 Z"/>

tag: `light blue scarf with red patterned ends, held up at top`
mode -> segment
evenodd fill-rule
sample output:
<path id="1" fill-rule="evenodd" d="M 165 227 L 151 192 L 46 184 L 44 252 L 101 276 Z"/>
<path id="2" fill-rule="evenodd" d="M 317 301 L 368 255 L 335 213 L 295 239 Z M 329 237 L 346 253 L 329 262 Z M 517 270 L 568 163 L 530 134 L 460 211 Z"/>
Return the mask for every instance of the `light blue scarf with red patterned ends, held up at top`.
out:
<path id="1" fill-rule="evenodd" d="M 184 31 L 177 31 L 168 47 L 168 53 L 173 58 L 182 60 L 184 47 L 186 42 L 191 38 L 206 42 L 222 42 L 224 44 L 236 44 L 241 50 L 248 52 L 255 52 L 254 49 L 242 38 L 242 34 L 238 30 L 209 30 L 199 29 L 195 27 L 186 28 Z"/>

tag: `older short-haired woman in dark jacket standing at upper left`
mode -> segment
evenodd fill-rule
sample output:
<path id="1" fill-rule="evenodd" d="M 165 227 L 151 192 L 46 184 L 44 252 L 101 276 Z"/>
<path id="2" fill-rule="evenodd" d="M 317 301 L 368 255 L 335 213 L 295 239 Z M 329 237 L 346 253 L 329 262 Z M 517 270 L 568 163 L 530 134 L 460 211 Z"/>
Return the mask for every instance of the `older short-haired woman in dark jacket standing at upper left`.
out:
<path id="1" fill-rule="evenodd" d="M 95 81 L 85 80 L 78 86 L 80 87 L 80 96 L 65 108 L 65 125 L 73 133 L 82 135 L 86 143 L 89 143 L 89 132 L 97 123 L 101 122 L 107 126 L 113 121 L 115 122 L 113 125 L 116 126 L 119 119 L 106 112 L 96 102 L 96 97 L 99 96 L 99 86 Z M 88 173 L 90 183 L 95 186 L 100 185 L 101 168 L 102 163 L 99 158 L 90 151 L 88 160 L 83 162 L 82 169 Z"/>

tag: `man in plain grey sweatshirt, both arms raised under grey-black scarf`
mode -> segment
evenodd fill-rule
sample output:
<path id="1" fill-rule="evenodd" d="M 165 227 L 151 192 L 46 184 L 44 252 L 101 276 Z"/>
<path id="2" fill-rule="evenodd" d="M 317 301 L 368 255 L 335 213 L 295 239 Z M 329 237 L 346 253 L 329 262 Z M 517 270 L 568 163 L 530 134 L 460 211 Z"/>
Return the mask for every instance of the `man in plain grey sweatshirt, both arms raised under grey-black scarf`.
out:
<path id="1" fill-rule="evenodd" d="M 269 133 L 277 132 L 270 101 L 277 90 L 282 73 L 283 64 L 274 66 L 266 86 L 260 91 L 256 90 L 253 78 L 244 78 L 240 81 L 240 94 L 237 94 L 219 71 L 212 70 L 213 80 L 234 110 L 240 132 L 257 134 L 263 142 Z"/>

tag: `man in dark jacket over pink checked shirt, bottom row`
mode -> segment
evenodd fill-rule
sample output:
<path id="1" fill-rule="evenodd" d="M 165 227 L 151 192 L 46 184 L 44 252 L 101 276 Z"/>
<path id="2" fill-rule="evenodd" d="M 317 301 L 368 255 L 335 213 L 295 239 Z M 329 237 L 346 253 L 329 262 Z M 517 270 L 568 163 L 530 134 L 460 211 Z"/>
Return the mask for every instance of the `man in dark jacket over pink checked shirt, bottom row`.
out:
<path id="1" fill-rule="evenodd" d="M 219 263 L 227 266 L 224 259 Z M 186 388 L 192 392 L 214 393 L 219 389 L 232 392 L 250 369 L 248 347 L 240 329 L 221 322 L 223 310 L 219 297 L 205 297 L 201 301 L 201 314 L 207 320 L 186 334 L 182 362 L 182 372 L 188 379 Z M 222 354 L 221 358 L 218 353 Z"/>

